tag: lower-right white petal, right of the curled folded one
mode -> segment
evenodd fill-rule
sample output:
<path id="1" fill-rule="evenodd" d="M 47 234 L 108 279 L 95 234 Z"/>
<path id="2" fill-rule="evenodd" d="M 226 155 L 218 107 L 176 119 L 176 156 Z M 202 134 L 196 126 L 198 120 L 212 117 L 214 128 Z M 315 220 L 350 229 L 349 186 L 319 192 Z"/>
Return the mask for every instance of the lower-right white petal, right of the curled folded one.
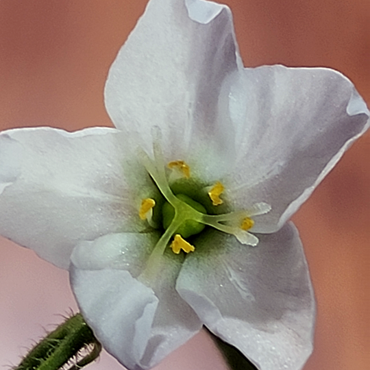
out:
<path id="1" fill-rule="evenodd" d="M 301 369 L 314 326 L 301 241 L 293 224 L 258 238 L 257 247 L 247 247 L 217 232 L 197 243 L 176 288 L 214 334 L 259 369 Z"/>

